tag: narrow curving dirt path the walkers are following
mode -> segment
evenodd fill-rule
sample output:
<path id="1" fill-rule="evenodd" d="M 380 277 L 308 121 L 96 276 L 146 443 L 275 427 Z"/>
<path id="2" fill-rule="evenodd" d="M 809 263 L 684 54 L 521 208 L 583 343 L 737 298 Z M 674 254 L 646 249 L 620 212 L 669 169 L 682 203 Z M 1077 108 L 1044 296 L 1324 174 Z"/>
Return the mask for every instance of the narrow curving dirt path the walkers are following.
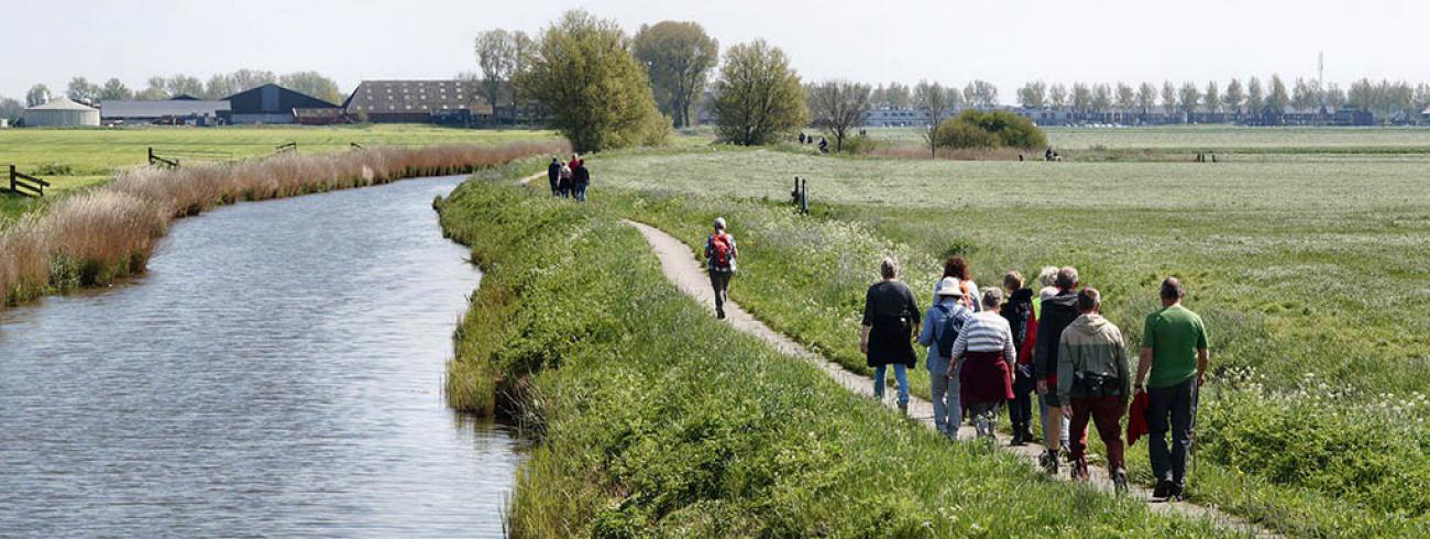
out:
<path id="1" fill-rule="evenodd" d="M 651 249 L 655 250 L 656 257 L 661 259 L 661 270 L 665 273 L 665 277 L 671 280 L 671 283 L 675 283 L 675 286 L 679 287 L 681 292 L 685 292 L 686 295 L 695 297 L 698 302 L 714 310 L 715 292 L 711 290 L 709 279 L 705 275 L 705 269 L 692 256 L 691 249 L 686 247 L 685 243 L 681 243 L 681 240 L 649 224 L 636 223 L 631 220 L 628 220 L 626 224 L 631 224 L 632 227 L 639 230 L 642 236 L 645 236 L 646 243 L 651 244 Z M 769 329 L 769 326 L 765 326 L 762 322 L 756 320 L 754 316 L 745 312 L 745 309 L 741 309 L 739 305 L 735 305 L 734 302 L 726 302 L 725 315 L 726 319 L 729 320 L 729 325 L 735 326 L 735 329 L 756 336 L 765 340 L 766 343 L 774 345 L 775 349 L 789 356 L 805 359 L 814 363 L 825 373 L 828 373 L 829 377 L 832 377 L 835 382 L 844 385 L 845 389 L 862 396 L 874 395 L 872 379 L 848 372 L 839 365 L 814 355 L 799 343 L 794 342 L 792 339 L 786 337 L 782 333 Z M 888 392 L 888 393 L 895 393 L 895 392 Z M 889 395 L 889 397 L 884 402 L 884 405 L 889 407 L 895 405 L 895 402 L 892 400 L 892 395 Z M 922 423 L 928 429 L 934 429 L 934 406 L 928 400 L 912 397 L 908 405 L 908 413 L 917 422 Z M 975 433 L 971 426 L 965 425 L 960 430 L 960 439 L 972 439 L 974 436 Z M 1010 453 L 1018 455 L 1020 458 L 1035 466 L 1038 460 L 1038 453 L 1041 452 L 1042 446 L 1041 445 L 1030 445 L 1022 447 L 1008 446 L 1008 439 L 1002 435 L 998 435 L 998 447 Z M 1065 470 L 1067 468 L 1064 466 L 1062 469 Z M 1093 480 L 1090 482 L 1091 488 L 1095 488 L 1107 493 L 1114 492 L 1113 480 L 1108 478 L 1105 469 L 1098 468 L 1090 472 L 1093 475 Z M 1068 476 L 1067 473 L 1060 473 L 1058 479 L 1067 480 Z M 1128 493 L 1128 496 L 1134 496 L 1148 502 L 1148 508 L 1157 512 L 1178 513 L 1178 515 L 1210 519 L 1223 528 L 1240 533 L 1247 533 L 1256 538 L 1280 538 L 1280 535 L 1277 533 L 1261 529 L 1240 518 L 1223 513 L 1213 508 L 1205 508 L 1185 502 L 1178 502 L 1178 503 L 1153 502 L 1151 490 L 1137 485 L 1131 486 L 1131 492 Z"/>

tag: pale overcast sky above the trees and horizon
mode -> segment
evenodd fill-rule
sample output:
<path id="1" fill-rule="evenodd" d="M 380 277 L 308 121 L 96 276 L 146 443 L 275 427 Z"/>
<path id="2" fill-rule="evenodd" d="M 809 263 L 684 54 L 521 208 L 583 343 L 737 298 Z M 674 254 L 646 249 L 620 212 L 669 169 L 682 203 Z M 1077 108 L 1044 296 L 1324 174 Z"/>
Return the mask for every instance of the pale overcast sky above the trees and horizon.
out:
<path id="1" fill-rule="evenodd" d="M 1427 0 L 0 0 L 0 94 L 70 77 L 206 80 L 240 67 L 363 79 L 475 71 L 483 29 L 535 33 L 571 7 L 642 23 L 694 20 L 721 46 L 764 37 L 808 79 L 1197 80 L 1280 73 L 1287 83 L 1430 81 Z"/>

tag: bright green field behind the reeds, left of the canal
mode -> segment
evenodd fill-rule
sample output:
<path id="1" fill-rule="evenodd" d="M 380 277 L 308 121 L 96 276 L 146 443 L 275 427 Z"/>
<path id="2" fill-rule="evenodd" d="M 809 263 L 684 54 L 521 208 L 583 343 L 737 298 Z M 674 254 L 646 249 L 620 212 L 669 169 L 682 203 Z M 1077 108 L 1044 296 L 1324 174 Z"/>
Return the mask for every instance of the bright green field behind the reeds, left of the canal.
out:
<path id="1" fill-rule="evenodd" d="M 0 164 L 54 183 L 56 190 L 107 180 L 117 169 L 147 164 L 147 149 L 184 162 L 270 156 L 297 143 L 299 153 L 346 152 L 362 146 L 500 144 L 555 139 L 553 132 L 470 130 L 415 124 L 235 126 L 213 129 L 7 129 L 0 130 Z"/>

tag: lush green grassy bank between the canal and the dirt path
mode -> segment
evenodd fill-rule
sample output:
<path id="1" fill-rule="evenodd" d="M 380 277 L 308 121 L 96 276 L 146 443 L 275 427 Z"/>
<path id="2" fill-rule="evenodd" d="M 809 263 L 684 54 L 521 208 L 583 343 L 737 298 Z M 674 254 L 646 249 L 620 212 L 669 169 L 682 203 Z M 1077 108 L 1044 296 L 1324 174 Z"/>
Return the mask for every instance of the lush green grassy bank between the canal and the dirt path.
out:
<path id="1" fill-rule="evenodd" d="M 612 206 L 469 182 L 439 204 L 486 269 L 448 396 L 515 392 L 541 443 L 518 538 L 1211 536 L 950 445 L 711 319 Z"/>

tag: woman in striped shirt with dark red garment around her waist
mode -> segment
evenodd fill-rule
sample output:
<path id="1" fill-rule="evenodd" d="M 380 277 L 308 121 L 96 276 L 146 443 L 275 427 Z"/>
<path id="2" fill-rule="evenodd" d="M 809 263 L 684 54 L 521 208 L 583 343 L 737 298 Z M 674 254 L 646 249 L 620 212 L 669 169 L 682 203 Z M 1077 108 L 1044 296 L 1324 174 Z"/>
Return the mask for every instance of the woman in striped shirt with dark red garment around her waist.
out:
<path id="1" fill-rule="evenodd" d="M 980 439 L 994 437 L 994 416 L 1012 399 L 1012 365 L 1018 360 L 1017 343 L 1008 320 L 998 315 L 1002 290 L 982 295 L 982 312 L 974 315 L 954 342 L 952 363 L 958 369 L 961 403 L 968 407 Z"/>

